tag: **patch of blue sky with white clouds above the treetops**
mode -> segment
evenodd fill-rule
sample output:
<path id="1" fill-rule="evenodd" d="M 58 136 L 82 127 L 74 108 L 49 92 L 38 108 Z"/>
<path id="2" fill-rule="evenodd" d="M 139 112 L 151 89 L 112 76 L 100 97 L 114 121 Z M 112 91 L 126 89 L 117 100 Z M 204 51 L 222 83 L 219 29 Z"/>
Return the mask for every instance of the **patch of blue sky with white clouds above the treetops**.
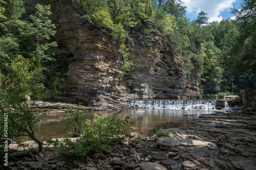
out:
<path id="1" fill-rule="evenodd" d="M 238 9 L 240 0 L 181 0 L 187 7 L 187 18 L 190 21 L 197 18 L 200 11 L 208 14 L 208 22 L 221 21 L 222 19 L 234 19 L 230 8 Z"/>

